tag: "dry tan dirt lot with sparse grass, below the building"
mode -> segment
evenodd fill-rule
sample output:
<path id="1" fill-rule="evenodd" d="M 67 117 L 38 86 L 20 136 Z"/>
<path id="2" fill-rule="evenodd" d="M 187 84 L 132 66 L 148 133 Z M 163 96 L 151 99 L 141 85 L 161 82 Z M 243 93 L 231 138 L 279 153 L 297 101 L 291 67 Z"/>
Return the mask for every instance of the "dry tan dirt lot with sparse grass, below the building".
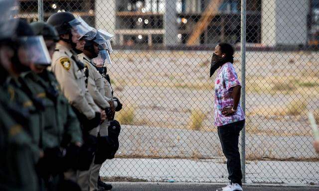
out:
<path id="1" fill-rule="evenodd" d="M 135 125 L 189 128 L 191 111 L 199 109 L 206 114 L 202 130 L 214 131 L 210 58 L 207 51 L 117 51 L 109 67 L 115 95 L 133 105 Z M 241 78 L 239 60 L 237 52 Z M 310 135 L 305 113 L 319 114 L 319 54 L 247 52 L 246 60 L 248 132 Z"/>

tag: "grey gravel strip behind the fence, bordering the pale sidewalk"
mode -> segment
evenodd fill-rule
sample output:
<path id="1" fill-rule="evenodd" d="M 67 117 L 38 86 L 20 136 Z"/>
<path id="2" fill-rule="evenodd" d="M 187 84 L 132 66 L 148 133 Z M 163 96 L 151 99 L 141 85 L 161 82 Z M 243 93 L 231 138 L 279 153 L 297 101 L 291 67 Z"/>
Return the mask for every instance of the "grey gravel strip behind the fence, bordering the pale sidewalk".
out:
<path id="1" fill-rule="evenodd" d="M 222 156 L 216 132 L 122 125 L 122 157 L 214 158 Z M 311 136 L 246 135 L 250 159 L 310 159 L 317 155 Z"/>

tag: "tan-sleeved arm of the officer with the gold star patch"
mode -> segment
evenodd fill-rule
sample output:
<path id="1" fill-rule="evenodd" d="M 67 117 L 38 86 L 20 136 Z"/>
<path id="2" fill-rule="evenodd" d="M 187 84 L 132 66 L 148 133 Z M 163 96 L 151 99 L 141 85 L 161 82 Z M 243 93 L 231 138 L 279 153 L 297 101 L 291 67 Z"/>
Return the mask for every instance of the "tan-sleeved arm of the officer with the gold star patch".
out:
<path id="1" fill-rule="evenodd" d="M 83 113 L 88 119 L 95 117 L 95 111 L 86 99 L 85 92 L 76 83 L 75 79 L 80 78 L 81 71 L 75 71 L 78 77 L 75 76 L 73 70 L 75 63 L 70 63 L 70 67 L 65 67 L 61 63 L 61 59 L 57 59 L 53 72 L 56 76 L 57 81 L 61 86 L 61 90 L 69 103 Z"/>

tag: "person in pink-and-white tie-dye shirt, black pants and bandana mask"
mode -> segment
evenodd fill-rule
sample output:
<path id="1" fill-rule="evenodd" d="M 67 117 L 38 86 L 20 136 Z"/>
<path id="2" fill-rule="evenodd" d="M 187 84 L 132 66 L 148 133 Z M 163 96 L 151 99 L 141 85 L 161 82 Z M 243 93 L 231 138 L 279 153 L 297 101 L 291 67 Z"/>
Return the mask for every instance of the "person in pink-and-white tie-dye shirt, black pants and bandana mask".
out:
<path id="1" fill-rule="evenodd" d="M 212 57 L 210 76 L 215 80 L 215 125 L 222 150 L 227 158 L 230 184 L 217 191 L 242 191 L 241 165 L 238 148 L 239 132 L 245 124 L 245 114 L 239 105 L 241 84 L 233 66 L 234 48 L 219 43 Z"/>

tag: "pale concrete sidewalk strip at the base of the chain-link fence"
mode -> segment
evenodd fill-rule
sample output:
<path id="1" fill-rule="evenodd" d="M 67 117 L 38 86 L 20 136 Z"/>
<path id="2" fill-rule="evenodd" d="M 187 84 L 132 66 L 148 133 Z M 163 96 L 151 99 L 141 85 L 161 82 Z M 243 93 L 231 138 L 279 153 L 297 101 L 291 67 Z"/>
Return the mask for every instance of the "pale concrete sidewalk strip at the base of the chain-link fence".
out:
<path id="1" fill-rule="evenodd" d="M 319 185 L 316 162 L 246 161 L 248 184 Z M 147 182 L 223 183 L 227 182 L 222 159 L 113 159 L 100 170 L 105 178 L 128 177 Z M 319 191 L 319 189 L 318 189 Z"/>

